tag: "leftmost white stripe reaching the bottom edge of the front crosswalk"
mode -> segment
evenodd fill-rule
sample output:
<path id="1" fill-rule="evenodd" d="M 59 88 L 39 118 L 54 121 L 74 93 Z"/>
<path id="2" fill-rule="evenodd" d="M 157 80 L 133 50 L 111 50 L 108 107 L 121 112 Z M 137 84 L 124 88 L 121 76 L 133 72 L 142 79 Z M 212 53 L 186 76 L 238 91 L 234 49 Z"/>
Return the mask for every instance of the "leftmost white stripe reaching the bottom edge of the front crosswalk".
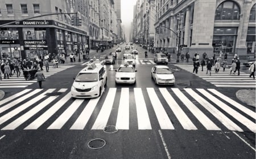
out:
<path id="1" fill-rule="evenodd" d="M 38 111 L 45 108 L 48 104 L 54 101 L 59 96 L 51 96 L 41 102 L 39 105 L 35 106 L 31 110 L 27 111 L 27 113 L 23 114 L 19 118 L 15 119 L 15 121 L 11 122 L 7 126 L 3 127 L 1 130 L 14 130 L 15 128 L 19 127 L 22 123 L 26 122 L 29 118 L 33 117 Z"/>

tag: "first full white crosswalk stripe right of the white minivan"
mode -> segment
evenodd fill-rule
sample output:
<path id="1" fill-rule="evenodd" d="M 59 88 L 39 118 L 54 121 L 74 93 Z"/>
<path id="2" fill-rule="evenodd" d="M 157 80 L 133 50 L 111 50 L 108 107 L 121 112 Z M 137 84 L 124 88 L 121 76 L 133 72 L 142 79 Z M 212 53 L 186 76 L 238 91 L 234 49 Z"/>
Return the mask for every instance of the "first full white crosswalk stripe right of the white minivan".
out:
<path id="1" fill-rule="evenodd" d="M 93 124 L 92 130 L 96 130 L 96 129 L 104 130 L 104 128 L 106 127 L 106 124 L 108 124 L 109 115 L 112 111 L 116 91 L 117 91 L 117 88 L 109 88 L 108 95 L 106 96 L 106 99 L 104 101 L 104 104 L 102 105 L 101 111 L 98 114 L 98 117 Z"/>

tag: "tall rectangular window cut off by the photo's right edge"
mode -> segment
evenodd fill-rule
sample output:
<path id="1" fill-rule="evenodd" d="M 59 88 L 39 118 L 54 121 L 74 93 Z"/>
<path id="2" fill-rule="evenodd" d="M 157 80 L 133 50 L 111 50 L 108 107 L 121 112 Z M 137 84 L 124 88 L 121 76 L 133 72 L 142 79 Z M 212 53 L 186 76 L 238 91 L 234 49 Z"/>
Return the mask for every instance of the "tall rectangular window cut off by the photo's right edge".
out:
<path id="1" fill-rule="evenodd" d="M 256 50 L 255 35 L 256 35 L 255 27 L 248 27 L 247 37 L 246 37 L 247 54 L 255 54 L 255 50 Z"/>

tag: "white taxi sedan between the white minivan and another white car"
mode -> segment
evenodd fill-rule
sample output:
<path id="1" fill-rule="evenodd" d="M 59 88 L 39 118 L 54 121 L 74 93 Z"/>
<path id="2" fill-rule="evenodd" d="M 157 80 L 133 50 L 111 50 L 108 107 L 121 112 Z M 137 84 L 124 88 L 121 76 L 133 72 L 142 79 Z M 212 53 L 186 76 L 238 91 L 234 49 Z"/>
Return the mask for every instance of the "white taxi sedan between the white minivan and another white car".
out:
<path id="1" fill-rule="evenodd" d="M 115 74 L 115 83 L 136 83 L 136 74 L 137 70 L 134 69 L 133 65 L 120 65 Z"/>

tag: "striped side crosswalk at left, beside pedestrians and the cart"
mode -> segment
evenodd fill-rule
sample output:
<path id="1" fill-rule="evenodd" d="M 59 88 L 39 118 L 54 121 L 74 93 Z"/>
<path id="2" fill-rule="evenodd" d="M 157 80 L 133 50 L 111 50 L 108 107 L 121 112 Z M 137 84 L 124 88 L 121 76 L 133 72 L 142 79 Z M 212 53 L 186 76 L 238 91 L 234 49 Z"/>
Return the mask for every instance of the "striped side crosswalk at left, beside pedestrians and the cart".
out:
<path id="1" fill-rule="evenodd" d="M 49 72 L 46 72 L 46 69 L 44 69 L 43 74 L 47 78 L 51 75 L 56 74 L 57 72 L 66 70 L 67 68 L 73 67 L 72 65 L 67 66 L 59 66 L 58 68 L 49 68 Z M 17 78 L 16 74 L 11 76 L 9 79 L 3 79 L 2 75 L 2 81 L 0 81 L 0 88 L 24 88 L 28 85 L 36 83 L 36 79 L 33 80 L 26 80 L 23 77 L 23 72 L 21 71 L 20 76 Z"/>

